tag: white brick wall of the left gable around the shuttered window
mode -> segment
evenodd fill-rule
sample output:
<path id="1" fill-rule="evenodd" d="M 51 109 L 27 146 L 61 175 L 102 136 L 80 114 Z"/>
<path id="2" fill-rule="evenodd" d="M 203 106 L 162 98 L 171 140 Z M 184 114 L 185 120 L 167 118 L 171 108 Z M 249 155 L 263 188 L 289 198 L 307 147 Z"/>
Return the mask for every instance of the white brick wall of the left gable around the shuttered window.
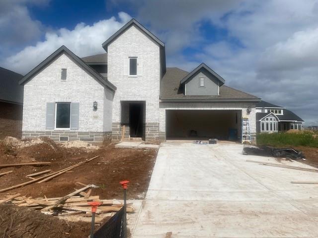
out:
<path id="1" fill-rule="evenodd" d="M 61 68 L 67 68 L 66 81 L 61 81 Z M 23 131 L 45 130 L 47 102 L 79 102 L 79 131 L 104 131 L 104 87 L 66 54 L 24 85 Z"/>

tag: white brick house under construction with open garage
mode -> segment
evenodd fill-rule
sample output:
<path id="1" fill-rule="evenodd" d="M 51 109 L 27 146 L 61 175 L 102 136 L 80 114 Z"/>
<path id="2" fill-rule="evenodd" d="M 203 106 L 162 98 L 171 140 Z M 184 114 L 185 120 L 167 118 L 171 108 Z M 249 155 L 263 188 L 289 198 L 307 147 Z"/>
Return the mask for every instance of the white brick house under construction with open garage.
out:
<path id="1" fill-rule="evenodd" d="M 204 63 L 166 67 L 164 43 L 135 19 L 102 47 L 107 54 L 79 59 L 62 46 L 23 77 L 23 138 L 239 140 L 245 117 L 255 141 L 260 99 Z"/>

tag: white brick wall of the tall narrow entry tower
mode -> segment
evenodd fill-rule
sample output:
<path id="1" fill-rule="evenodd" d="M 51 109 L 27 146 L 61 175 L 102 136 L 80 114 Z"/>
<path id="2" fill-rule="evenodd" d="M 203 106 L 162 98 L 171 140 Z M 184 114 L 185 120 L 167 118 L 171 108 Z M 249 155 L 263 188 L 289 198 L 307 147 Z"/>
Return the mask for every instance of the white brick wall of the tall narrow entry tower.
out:
<path id="1" fill-rule="evenodd" d="M 131 26 L 108 46 L 108 80 L 117 87 L 113 122 L 120 122 L 120 101 L 146 101 L 146 122 L 159 121 L 159 45 Z M 142 76 L 129 77 L 128 57 L 142 61 Z M 126 60 L 126 62 L 125 62 Z M 139 74 L 139 73 L 138 73 Z"/>

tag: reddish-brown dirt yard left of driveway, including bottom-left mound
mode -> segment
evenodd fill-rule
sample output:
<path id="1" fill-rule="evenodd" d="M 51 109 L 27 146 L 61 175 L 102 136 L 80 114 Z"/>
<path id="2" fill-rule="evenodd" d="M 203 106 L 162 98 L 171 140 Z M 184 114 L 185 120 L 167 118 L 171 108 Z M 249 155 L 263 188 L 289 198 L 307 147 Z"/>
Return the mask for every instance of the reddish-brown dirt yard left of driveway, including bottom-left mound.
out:
<path id="1" fill-rule="evenodd" d="M 25 144 L 26 146 L 24 146 Z M 74 188 L 80 188 L 81 186 L 77 185 L 76 182 L 97 185 L 98 188 L 93 188 L 91 195 L 99 195 L 100 199 L 123 199 L 123 190 L 119 184 L 121 180 L 130 181 L 127 192 L 128 199 L 142 199 L 144 197 L 148 189 L 158 150 L 115 148 L 114 144 L 104 144 L 99 148 L 97 147 L 98 149 L 94 146 L 86 146 L 86 148 L 71 146 L 72 145 L 66 145 L 66 147 L 70 147 L 66 148 L 49 139 L 33 141 L 32 143 L 24 141 L 22 145 L 19 144 L 19 141 L 14 141 L 13 144 L 4 143 L 3 141 L 0 142 L 0 164 L 27 162 L 52 163 L 49 166 L 1 168 L 0 173 L 10 170 L 12 170 L 13 173 L 0 177 L 0 189 L 29 181 L 29 179 L 25 178 L 26 175 L 48 169 L 58 171 L 99 155 L 98 158 L 84 163 L 72 171 L 64 173 L 50 181 L 43 183 L 35 182 L 0 193 L 0 199 L 3 196 L 15 193 L 20 193 L 26 197 L 32 196 L 33 198 L 44 197 L 44 195 L 46 197 L 61 197 L 74 191 Z M 90 224 L 66 223 L 60 221 L 58 218 L 44 215 L 39 211 L 31 211 L 27 208 L 25 208 L 25 211 L 23 210 L 22 213 L 27 213 L 28 216 L 24 216 L 21 214 L 21 209 L 24 208 L 8 206 L 11 205 L 4 204 L 0 206 L 0 214 L 3 217 L 0 217 L 1 228 L 13 228 L 17 223 L 16 221 L 25 223 L 21 225 L 22 228 L 23 226 L 31 228 L 28 228 L 29 231 L 26 229 L 26 233 L 23 235 L 21 235 L 22 233 L 10 233 L 9 231 L 0 229 L 0 237 L 40 238 L 44 237 L 41 235 L 41 232 L 43 232 L 47 238 L 81 238 L 87 237 L 89 234 Z M 27 221 L 27 217 L 35 217 L 36 219 Z M 41 221 L 44 221 L 42 217 L 53 220 L 45 220 L 46 222 L 41 224 Z M 9 224 L 9 221 L 13 223 Z M 35 229 L 34 227 L 41 227 L 41 229 Z M 53 230 L 53 227 L 55 227 L 54 229 L 58 227 L 58 232 L 56 234 L 52 233 L 52 236 L 48 236 L 48 231 Z M 5 235 L 5 233 L 11 235 Z"/>

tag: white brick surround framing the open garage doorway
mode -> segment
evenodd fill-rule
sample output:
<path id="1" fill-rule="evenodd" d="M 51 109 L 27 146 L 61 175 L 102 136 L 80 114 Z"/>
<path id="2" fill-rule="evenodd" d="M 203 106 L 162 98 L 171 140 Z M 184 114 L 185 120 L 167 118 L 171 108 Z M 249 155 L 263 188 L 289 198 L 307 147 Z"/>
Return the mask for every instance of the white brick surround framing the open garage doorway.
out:
<path id="1" fill-rule="evenodd" d="M 165 131 L 165 110 L 241 110 L 242 117 L 248 117 L 251 134 L 256 133 L 255 103 L 160 103 L 159 131 Z M 249 115 L 246 109 L 251 107 Z"/>

